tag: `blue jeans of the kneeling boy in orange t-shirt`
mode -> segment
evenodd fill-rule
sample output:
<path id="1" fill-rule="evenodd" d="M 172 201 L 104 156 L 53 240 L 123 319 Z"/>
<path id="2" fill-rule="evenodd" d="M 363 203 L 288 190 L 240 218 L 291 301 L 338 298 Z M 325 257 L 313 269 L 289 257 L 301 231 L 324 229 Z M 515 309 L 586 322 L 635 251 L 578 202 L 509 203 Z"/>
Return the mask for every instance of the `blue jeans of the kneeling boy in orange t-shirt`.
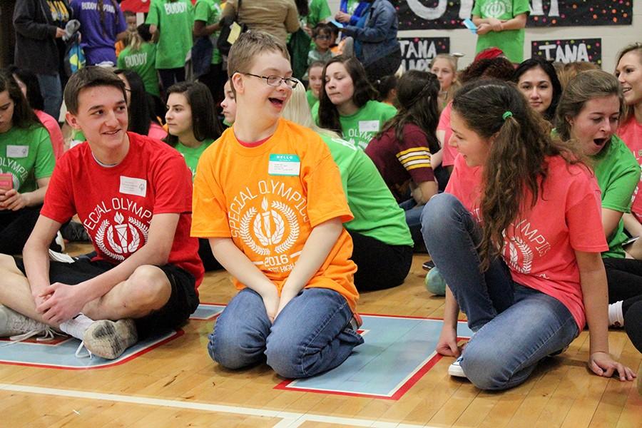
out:
<path id="1" fill-rule="evenodd" d="M 331 370 L 363 343 L 350 327 L 345 297 L 327 288 L 305 288 L 270 323 L 261 296 L 244 288 L 220 314 L 210 335 L 210 357 L 228 369 L 262 362 L 290 379 Z"/>

